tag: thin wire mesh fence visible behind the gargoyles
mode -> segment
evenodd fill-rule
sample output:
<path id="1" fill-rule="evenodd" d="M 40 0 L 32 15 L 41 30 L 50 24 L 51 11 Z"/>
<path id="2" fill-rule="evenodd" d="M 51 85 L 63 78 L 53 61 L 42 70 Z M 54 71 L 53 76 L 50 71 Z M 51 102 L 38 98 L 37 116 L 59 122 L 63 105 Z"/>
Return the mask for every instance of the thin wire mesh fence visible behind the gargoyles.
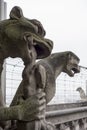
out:
<path id="1" fill-rule="evenodd" d="M 9 58 L 6 61 L 6 102 L 10 104 L 21 80 L 23 62 L 20 59 Z M 80 73 L 74 77 L 69 77 L 65 73 L 61 73 L 56 80 L 56 93 L 49 104 L 73 103 L 79 102 L 80 95 L 76 91 L 78 87 L 82 87 L 87 94 L 87 68 L 81 66 Z"/>

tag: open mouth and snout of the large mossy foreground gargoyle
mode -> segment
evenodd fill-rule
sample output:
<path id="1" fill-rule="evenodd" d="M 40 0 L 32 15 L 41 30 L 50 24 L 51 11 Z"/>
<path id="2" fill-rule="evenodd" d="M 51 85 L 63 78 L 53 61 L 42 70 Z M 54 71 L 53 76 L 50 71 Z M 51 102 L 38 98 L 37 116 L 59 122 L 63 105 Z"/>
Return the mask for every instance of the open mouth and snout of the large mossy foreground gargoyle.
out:
<path id="1" fill-rule="evenodd" d="M 51 54 L 51 51 L 53 49 L 53 41 L 50 39 L 46 39 L 31 32 L 24 33 L 24 37 L 33 38 L 33 45 L 37 52 L 37 59 L 46 58 Z"/>

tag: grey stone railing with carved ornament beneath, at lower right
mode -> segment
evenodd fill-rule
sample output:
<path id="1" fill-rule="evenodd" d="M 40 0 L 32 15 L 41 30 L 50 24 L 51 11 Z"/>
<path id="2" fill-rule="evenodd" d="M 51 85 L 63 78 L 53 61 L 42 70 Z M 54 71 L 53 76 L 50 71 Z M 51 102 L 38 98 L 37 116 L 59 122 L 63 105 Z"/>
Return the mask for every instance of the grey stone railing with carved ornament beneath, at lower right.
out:
<path id="1" fill-rule="evenodd" d="M 87 130 L 87 107 L 48 111 L 46 119 L 57 130 Z"/>

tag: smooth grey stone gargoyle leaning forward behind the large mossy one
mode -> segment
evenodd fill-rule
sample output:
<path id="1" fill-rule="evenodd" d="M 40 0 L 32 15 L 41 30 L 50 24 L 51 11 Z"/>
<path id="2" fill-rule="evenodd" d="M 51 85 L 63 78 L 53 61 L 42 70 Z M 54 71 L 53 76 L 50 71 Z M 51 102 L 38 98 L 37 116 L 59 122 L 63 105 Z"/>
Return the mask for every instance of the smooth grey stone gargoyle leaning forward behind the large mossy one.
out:
<path id="1" fill-rule="evenodd" d="M 73 52 L 66 51 L 51 54 L 47 58 L 44 58 L 35 64 L 37 87 L 41 88 L 41 86 L 43 86 L 42 89 L 46 93 L 47 103 L 50 102 L 55 95 L 56 78 L 60 75 L 61 72 L 65 72 L 71 77 L 74 76 L 75 73 L 80 72 L 78 63 L 79 58 Z M 18 103 L 19 97 L 24 95 L 23 82 L 24 81 L 22 81 L 19 85 L 11 106 L 16 105 Z M 43 85 L 41 85 L 41 82 Z"/>

